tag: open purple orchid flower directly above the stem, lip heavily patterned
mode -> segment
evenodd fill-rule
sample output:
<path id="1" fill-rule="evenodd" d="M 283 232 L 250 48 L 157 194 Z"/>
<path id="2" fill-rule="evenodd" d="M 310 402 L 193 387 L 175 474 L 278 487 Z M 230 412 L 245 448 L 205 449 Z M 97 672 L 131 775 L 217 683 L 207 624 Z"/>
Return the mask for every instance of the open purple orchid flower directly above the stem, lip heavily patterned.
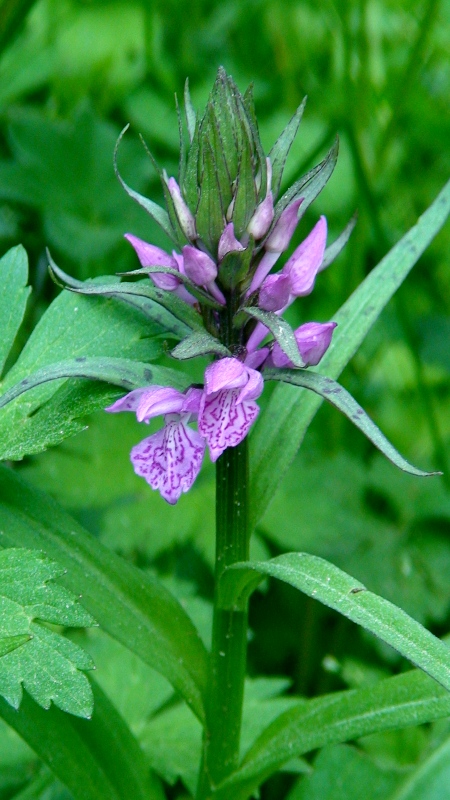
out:
<path id="1" fill-rule="evenodd" d="M 263 385 L 262 375 L 237 358 L 221 358 L 206 368 L 198 429 L 208 443 L 211 461 L 247 436 L 259 414 L 255 400 Z"/>

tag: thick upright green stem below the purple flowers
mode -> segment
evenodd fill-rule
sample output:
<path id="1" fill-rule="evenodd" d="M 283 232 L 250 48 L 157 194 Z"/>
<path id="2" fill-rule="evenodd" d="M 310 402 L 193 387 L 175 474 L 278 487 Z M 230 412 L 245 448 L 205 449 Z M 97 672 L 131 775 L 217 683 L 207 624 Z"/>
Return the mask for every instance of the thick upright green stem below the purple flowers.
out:
<path id="1" fill-rule="evenodd" d="M 239 763 L 239 743 L 247 652 L 247 612 L 224 611 L 217 586 L 224 569 L 249 558 L 248 447 L 244 439 L 216 464 L 216 597 L 204 752 L 197 797 L 207 800 L 214 786 Z"/>

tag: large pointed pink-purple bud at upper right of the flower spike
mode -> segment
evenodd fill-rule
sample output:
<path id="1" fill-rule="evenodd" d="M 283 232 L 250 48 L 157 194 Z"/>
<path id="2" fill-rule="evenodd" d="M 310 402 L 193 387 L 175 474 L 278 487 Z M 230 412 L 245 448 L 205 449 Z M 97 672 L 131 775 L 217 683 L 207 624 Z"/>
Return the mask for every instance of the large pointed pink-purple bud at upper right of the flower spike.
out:
<path id="1" fill-rule="evenodd" d="M 312 291 L 323 260 L 326 239 L 327 222 L 325 217 L 321 217 L 284 265 L 283 273 L 289 275 L 293 297 L 304 297 Z"/>

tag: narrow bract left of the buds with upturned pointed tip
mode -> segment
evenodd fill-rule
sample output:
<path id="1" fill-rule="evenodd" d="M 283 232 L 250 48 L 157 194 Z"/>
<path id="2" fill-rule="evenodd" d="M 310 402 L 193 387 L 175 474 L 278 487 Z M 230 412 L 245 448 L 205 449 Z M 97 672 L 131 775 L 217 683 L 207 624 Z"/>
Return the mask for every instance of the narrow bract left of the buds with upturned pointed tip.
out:
<path id="1" fill-rule="evenodd" d="M 117 299 L 126 299 L 128 296 L 149 298 L 164 306 L 171 314 L 182 320 L 186 325 L 189 325 L 190 328 L 203 328 L 200 315 L 191 306 L 183 300 L 180 300 L 173 292 L 158 289 L 150 280 L 139 281 L 138 283 L 77 281 L 71 278 L 70 275 L 66 275 L 66 273 L 55 264 L 50 253 L 47 253 L 47 255 L 50 262 L 51 274 L 55 282 L 64 289 L 69 289 L 71 292 L 77 292 L 78 294 L 115 297 Z"/>

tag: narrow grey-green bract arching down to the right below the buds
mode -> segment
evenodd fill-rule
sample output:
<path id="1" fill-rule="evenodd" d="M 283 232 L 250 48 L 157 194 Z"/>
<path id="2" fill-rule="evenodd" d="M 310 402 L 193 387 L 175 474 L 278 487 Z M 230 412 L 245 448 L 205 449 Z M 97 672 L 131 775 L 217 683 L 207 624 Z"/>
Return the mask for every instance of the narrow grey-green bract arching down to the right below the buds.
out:
<path id="1" fill-rule="evenodd" d="M 378 447 L 389 461 L 392 461 L 396 467 L 409 472 L 411 475 L 418 475 L 420 477 L 428 477 L 430 475 L 440 475 L 439 472 L 424 472 L 421 469 L 413 467 L 406 461 L 400 453 L 397 452 L 395 447 L 386 439 L 385 435 L 380 431 L 374 422 L 367 416 L 363 408 L 356 402 L 354 397 L 340 386 L 332 378 L 327 378 L 324 375 L 319 375 L 317 372 L 307 372 L 306 370 L 292 370 L 292 369 L 268 369 L 264 371 L 266 380 L 285 381 L 294 386 L 301 386 L 304 389 L 310 389 L 312 392 L 328 400 L 331 405 L 335 406 L 345 414 L 353 424 L 359 428 L 360 431 L 367 436 L 368 439 Z"/>

